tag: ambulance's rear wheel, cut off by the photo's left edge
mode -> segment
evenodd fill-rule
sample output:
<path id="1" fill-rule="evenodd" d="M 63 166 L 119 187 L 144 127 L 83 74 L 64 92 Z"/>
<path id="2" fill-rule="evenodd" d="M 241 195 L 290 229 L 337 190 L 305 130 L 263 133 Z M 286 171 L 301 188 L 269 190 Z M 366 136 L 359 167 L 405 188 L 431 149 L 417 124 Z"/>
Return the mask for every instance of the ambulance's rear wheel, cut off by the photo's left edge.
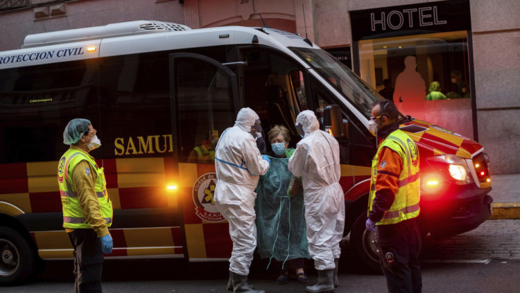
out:
<path id="1" fill-rule="evenodd" d="M 16 285 L 31 276 L 35 254 L 16 230 L 0 227 L 0 285 Z"/>

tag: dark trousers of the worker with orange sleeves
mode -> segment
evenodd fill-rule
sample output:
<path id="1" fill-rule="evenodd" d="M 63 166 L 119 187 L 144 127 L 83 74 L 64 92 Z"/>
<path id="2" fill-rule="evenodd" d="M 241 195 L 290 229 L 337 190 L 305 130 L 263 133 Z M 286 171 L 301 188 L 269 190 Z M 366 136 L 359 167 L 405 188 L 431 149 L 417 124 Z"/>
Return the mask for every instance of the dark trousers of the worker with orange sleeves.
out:
<path id="1" fill-rule="evenodd" d="M 415 218 L 397 224 L 378 225 L 379 260 L 388 292 L 422 290 L 419 249 L 421 238 Z"/>

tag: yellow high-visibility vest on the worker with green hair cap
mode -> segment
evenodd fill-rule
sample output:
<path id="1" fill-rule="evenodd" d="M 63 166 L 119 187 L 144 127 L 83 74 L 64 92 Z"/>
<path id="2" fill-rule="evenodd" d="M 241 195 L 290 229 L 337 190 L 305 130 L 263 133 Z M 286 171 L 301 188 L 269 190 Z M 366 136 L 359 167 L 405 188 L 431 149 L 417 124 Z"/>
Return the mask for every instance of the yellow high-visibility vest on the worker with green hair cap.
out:
<path id="1" fill-rule="evenodd" d="M 98 197 L 99 210 L 101 216 L 107 222 L 107 227 L 110 227 L 112 225 L 113 213 L 112 202 L 108 197 L 103 168 L 99 168 L 94 158 L 89 156 L 89 154 L 73 148 L 69 148 L 58 163 L 58 185 L 60 186 L 62 199 L 63 227 L 69 229 L 92 229 L 92 226 L 85 219 L 83 208 L 81 208 L 78 201 L 78 193 L 72 184 L 71 171 L 83 160 L 89 162 L 94 168 L 92 172 L 96 172 L 97 177 L 94 182 L 94 190 Z"/>

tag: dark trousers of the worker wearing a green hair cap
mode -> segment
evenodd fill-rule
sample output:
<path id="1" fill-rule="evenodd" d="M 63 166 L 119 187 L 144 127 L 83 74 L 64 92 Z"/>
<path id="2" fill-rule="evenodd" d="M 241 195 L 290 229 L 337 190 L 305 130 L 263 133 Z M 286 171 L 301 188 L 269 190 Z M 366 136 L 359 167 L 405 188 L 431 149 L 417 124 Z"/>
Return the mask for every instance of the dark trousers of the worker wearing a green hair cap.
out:
<path id="1" fill-rule="evenodd" d="M 74 248 L 74 292 L 101 292 L 101 240 L 92 229 L 76 229 L 68 234 Z"/>

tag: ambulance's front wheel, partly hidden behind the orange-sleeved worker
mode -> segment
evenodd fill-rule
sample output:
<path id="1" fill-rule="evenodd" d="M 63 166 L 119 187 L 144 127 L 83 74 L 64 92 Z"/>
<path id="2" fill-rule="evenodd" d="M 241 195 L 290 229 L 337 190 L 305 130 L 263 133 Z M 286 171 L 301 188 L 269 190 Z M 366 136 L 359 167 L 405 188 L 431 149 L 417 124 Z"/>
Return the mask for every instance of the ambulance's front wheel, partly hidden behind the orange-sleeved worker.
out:
<path id="1" fill-rule="evenodd" d="M 372 273 L 381 274 L 379 267 L 379 249 L 377 248 L 377 233 L 365 228 L 367 211 L 358 215 L 350 232 L 350 245 L 354 255 Z"/>

